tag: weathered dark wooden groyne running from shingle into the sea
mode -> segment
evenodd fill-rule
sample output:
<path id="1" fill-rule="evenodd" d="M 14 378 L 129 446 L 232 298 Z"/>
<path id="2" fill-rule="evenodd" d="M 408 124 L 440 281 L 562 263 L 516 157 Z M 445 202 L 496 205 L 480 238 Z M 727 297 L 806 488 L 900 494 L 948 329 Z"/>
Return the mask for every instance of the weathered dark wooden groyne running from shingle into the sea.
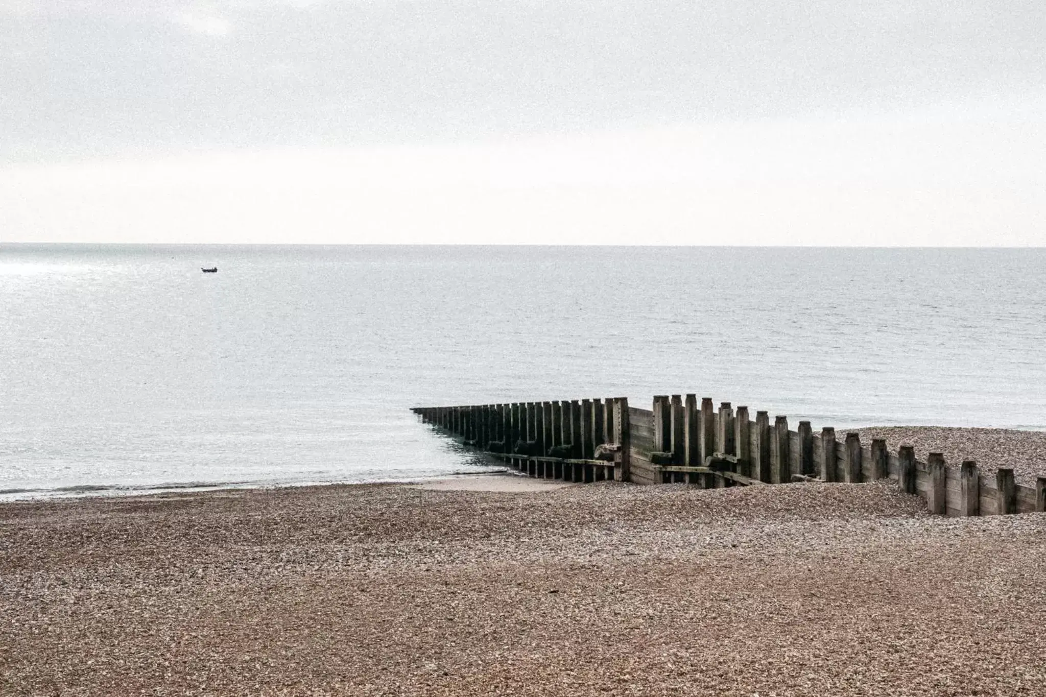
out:
<path id="1" fill-rule="evenodd" d="M 767 412 L 757 411 L 752 419 L 747 406 L 717 408 L 710 397 L 699 401 L 695 394 L 654 397 L 651 410 L 612 397 L 412 411 L 530 477 L 699 487 L 888 478 L 941 515 L 1046 511 L 1046 477 L 1034 487 L 1022 486 L 1013 469 L 985 475 L 975 461 L 954 467 L 939 452 L 924 462 L 910 445 L 890 451 L 885 440 L 866 445 L 857 433 L 837 436 L 824 427 L 815 434 L 809 421 L 793 431 L 787 416 L 771 423 Z"/>

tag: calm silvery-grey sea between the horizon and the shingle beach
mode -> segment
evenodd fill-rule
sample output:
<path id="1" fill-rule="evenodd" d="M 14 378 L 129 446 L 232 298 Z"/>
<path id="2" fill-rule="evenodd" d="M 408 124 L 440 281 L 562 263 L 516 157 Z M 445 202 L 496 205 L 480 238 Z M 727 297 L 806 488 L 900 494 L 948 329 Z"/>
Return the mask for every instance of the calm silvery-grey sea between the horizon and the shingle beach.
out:
<path id="1" fill-rule="evenodd" d="M 1046 250 L 0 245 L 6 497 L 464 471 L 410 406 L 681 392 L 1044 428 Z"/>

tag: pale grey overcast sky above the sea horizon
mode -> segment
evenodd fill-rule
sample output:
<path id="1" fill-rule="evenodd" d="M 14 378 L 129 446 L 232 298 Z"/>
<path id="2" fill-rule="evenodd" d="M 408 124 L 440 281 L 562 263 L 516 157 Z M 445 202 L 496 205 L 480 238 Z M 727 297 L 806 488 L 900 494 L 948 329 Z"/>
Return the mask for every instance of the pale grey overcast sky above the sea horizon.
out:
<path id="1" fill-rule="evenodd" d="M 0 241 L 1046 246 L 1046 3 L 0 0 Z"/>

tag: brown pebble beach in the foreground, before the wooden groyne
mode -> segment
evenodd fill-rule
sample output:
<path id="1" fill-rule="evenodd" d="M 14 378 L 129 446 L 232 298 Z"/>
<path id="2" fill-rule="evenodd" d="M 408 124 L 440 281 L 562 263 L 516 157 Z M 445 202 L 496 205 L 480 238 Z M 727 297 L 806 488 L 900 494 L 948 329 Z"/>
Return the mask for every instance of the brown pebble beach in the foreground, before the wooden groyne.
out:
<path id="1" fill-rule="evenodd" d="M 0 694 L 1043 694 L 1046 514 L 509 477 L 0 505 Z"/>

